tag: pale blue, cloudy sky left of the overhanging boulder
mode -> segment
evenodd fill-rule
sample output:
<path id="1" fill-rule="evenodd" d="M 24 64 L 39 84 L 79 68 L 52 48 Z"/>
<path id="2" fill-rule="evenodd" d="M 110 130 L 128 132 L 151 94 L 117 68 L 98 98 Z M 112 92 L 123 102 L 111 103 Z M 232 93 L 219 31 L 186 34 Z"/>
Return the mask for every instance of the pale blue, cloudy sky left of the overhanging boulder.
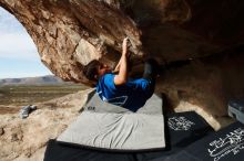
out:
<path id="1" fill-rule="evenodd" d="M 50 74 L 26 29 L 0 7 L 0 79 Z"/>

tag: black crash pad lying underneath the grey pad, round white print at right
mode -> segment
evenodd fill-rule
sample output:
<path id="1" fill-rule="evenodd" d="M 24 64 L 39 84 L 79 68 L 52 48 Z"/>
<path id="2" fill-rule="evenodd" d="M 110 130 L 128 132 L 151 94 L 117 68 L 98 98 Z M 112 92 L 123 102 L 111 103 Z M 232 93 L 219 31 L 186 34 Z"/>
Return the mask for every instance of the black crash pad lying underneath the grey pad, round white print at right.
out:
<path id="1" fill-rule="evenodd" d="M 213 129 L 194 111 L 165 115 L 167 148 L 165 150 L 142 152 L 111 152 L 82 147 L 62 144 L 50 140 L 44 154 L 44 161 L 157 161 L 171 159 L 189 144 L 213 132 Z M 159 160 L 159 161 L 160 161 Z M 179 161 L 182 161 L 179 160 Z"/>

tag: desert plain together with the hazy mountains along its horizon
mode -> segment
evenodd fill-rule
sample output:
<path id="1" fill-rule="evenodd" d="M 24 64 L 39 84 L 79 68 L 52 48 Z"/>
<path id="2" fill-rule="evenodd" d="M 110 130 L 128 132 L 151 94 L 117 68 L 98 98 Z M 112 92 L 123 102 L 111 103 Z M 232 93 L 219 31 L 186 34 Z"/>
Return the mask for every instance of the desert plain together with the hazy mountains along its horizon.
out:
<path id="1" fill-rule="evenodd" d="M 16 114 L 22 106 L 39 105 L 87 88 L 54 76 L 0 79 L 0 114 Z"/>

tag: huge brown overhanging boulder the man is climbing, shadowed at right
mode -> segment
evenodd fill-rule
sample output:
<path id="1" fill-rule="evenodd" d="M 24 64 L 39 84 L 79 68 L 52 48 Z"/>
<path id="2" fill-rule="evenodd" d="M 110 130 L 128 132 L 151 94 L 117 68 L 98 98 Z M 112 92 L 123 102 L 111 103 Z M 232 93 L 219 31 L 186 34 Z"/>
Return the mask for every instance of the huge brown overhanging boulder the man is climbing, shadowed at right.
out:
<path id="1" fill-rule="evenodd" d="M 244 41 L 242 0 L 0 0 L 0 6 L 65 80 L 89 84 L 82 68 L 94 58 L 114 66 L 129 36 L 134 66 L 146 56 L 173 66 L 157 82 L 171 106 L 184 99 L 223 116 L 231 97 L 244 96 L 243 51 L 235 47 Z"/>

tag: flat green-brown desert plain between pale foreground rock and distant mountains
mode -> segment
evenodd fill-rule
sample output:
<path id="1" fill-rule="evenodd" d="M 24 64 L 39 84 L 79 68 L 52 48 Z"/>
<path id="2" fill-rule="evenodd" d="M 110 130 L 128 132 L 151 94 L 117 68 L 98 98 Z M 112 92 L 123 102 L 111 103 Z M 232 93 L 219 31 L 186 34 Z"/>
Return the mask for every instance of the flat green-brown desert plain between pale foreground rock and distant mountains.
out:
<path id="1" fill-rule="evenodd" d="M 8 112 L 7 107 L 21 107 L 39 104 L 68 94 L 83 90 L 82 85 L 7 85 L 0 86 L 0 112 Z M 4 108 L 6 107 L 6 108 Z M 9 108 L 11 112 L 12 109 Z"/>

